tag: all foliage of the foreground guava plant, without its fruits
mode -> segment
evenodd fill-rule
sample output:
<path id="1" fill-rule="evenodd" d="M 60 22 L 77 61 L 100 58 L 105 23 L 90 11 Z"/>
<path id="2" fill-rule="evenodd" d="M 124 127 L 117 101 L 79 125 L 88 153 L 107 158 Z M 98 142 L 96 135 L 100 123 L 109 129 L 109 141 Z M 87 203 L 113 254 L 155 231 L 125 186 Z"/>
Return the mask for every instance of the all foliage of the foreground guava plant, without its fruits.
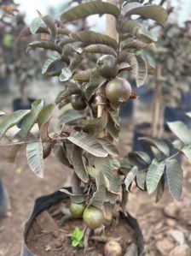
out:
<path id="1" fill-rule="evenodd" d="M 90 30 L 76 33 L 68 30 L 67 22 L 78 21 L 96 14 L 115 17 L 119 41 Z M 37 100 L 32 104 L 32 110 L 19 110 L 5 117 L 0 124 L 0 134 L 2 137 L 12 134 L 12 139 L 16 137 L 20 140 L 11 149 L 9 161 L 13 161 L 20 146 L 26 144 L 28 163 L 38 176 L 43 176 L 43 143 L 49 143 L 54 149 L 55 157 L 74 170 L 72 193 L 67 189 L 61 190 L 67 193 L 74 203 L 85 202 L 86 205 L 97 208 L 102 208 L 108 203 L 114 204 L 119 199 L 121 187 L 124 190 L 125 203 L 126 193 L 136 177 L 138 177 L 136 178 L 138 187 L 144 190 L 146 181 L 146 188 L 152 193 L 158 187 L 165 169 L 168 169 L 168 181 L 173 197 L 180 198 L 182 169 L 176 166 L 174 170 L 175 162 L 171 160 L 165 142 L 151 138 L 144 139 L 168 159 L 161 160 L 158 153 L 158 157 L 152 160 L 144 152 L 134 152 L 127 158 L 118 158 L 119 153 L 113 145 L 113 139 L 117 140 L 119 137 L 119 110 L 113 109 L 103 92 L 99 94 L 107 85 L 108 79 L 98 74 L 96 62 L 94 63 L 92 58 L 90 63 L 87 61 L 89 56 L 95 56 L 96 59 L 106 54 L 113 56 L 119 64 L 118 77 L 122 71 L 127 71 L 135 75 L 137 86 L 145 82 L 148 66 L 139 51 L 153 47 L 157 39 L 140 22 L 130 20 L 131 15 L 141 15 L 162 25 L 167 20 L 165 9 L 158 5 L 121 1 L 118 8 L 111 3 L 90 1 L 67 10 L 61 15 L 61 21 L 54 21 L 49 16 L 39 14 L 39 17 L 32 21 L 31 27 L 27 27 L 20 35 L 20 37 L 32 33 L 47 35 L 47 39 L 29 44 L 28 51 L 36 48 L 52 51 L 43 65 L 42 72 L 48 76 L 58 76 L 65 82 L 64 90 L 55 100 L 55 104 L 59 104 L 62 109 L 59 120 L 60 131 L 49 134 L 49 121 L 54 114 L 55 104 L 43 106 L 43 101 Z M 53 71 L 55 63 L 60 65 Z M 73 95 L 78 95 L 84 100 L 86 104 L 84 110 L 72 109 L 70 103 Z M 97 95 L 105 100 L 104 115 L 98 117 L 93 108 Z M 18 122 L 21 122 L 20 128 L 16 127 Z M 38 128 L 38 133 L 34 132 L 34 128 Z M 101 137 L 102 131 L 104 135 Z M 28 142 L 31 137 L 33 140 L 30 139 L 31 141 Z M 143 164 L 147 164 L 145 172 L 139 171 L 136 160 L 140 158 Z M 177 176 L 173 175 L 174 171 Z M 80 190 L 79 186 L 82 186 L 83 190 Z"/>

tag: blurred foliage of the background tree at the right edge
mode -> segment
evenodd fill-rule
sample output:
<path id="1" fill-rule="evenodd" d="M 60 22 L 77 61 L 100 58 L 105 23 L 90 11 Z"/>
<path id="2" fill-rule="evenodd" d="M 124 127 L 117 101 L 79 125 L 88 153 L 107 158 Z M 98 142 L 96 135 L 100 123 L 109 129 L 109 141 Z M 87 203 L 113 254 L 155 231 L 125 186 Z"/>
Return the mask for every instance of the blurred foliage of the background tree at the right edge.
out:
<path id="1" fill-rule="evenodd" d="M 152 60 L 153 68 L 156 63 L 162 64 L 160 85 L 166 104 L 180 104 L 182 95 L 190 91 L 190 27 L 188 21 L 184 27 L 174 23 L 160 28 L 158 49 L 145 53 L 146 57 Z M 154 85 L 152 77 L 149 83 Z"/>

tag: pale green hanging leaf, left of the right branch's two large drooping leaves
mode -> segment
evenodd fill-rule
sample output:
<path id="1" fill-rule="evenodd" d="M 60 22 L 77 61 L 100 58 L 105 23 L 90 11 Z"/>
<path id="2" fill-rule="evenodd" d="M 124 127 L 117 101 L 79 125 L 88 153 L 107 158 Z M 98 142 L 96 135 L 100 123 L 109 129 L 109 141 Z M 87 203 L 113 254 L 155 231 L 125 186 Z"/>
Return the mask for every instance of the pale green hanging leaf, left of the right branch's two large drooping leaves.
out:
<path id="1" fill-rule="evenodd" d="M 148 168 L 147 174 L 147 188 L 148 194 L 153 193 L 159 184 L 159 180 L 165 170 L 165 162 L 158 163 L 157 159 L 153 159 L 151 165 Z"/>

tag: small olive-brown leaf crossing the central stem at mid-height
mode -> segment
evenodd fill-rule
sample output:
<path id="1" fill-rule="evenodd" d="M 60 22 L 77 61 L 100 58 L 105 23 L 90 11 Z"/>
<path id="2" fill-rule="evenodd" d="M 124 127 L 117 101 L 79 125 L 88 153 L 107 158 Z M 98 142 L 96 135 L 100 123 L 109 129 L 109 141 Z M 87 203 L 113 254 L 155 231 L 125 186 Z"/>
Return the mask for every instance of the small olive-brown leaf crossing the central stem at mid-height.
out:
<path id="1" fill-rule="evenodd" d="M 83 128 L 84 133 L 90 135 L 98 135 L 101 131 L 106 128 L 107 119 L 103 117 L 96 117 L 90 120 Z"/>

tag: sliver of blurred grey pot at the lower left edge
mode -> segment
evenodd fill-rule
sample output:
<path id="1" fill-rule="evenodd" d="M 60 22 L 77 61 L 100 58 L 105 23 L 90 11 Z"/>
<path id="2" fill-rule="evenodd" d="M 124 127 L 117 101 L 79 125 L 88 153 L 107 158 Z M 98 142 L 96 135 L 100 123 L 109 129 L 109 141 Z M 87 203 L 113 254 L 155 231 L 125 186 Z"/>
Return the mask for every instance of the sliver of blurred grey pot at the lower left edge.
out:
<path id="1" fill-rule="evenodd" d="M 0 179 L 0 218 L 6 217 L 9 209 L 9 194 Z"/>

